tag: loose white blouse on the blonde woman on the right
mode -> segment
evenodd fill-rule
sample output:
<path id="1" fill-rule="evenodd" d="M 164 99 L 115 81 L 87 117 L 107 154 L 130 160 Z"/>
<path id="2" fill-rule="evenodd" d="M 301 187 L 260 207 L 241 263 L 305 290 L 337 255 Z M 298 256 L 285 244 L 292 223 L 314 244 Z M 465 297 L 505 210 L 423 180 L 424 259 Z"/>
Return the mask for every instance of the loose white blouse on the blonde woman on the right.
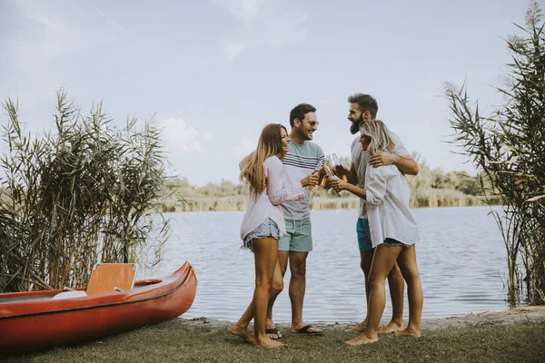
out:
<path id="1" fill-rule="evenodd" d="M 409 208 L 411 191 L 398 168 L 368 167 L 365 191 L 372 247 L 387 238 L 414 244 L 418 240 L 418 227 Z"/>

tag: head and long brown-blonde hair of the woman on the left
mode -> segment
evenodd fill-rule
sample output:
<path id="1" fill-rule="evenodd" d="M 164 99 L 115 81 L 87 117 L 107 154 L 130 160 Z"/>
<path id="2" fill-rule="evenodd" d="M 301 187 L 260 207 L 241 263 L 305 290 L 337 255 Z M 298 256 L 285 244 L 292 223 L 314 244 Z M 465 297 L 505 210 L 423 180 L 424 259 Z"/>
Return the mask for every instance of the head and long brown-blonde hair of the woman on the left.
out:
<path id="1" fill-rule="evenodd" d="M 273 155 L 281 155 L 281 159 L 285 156 L 286 152 L 282 147 L 282 129 L 288 133 L 280 123 L 269 123 L 263 127 L 252 160 L 241 170 L 241 181 L 248 182 L 250 190 L 257 194 L 261 193 L 266 185 L 263 168 L 265 159 Z"/>

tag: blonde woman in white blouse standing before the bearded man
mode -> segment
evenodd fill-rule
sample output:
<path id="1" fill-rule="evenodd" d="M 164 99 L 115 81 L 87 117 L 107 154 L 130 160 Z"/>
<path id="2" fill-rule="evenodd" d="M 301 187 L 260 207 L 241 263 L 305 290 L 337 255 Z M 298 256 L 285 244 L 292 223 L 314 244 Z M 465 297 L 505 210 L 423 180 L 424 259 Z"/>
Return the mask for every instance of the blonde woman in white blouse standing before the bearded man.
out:
<path id="1" fill-rule="evenodd" d="M 372 155 L 375 152 L 395 150 L 388 128 L 380 120 L 367 121 L 360 126 L 362 148 Z M 330 179 L 335 190 L 351 189 L 367 202 L 367 215 L 375 249 L 369 275 L 371 293 L 368 301 L 367 327 L 362 335 L 347 341 L 350 345 L 368 344 L 378 340 L 379 323 L 385 305 L 385 280 L 397 261 L 403 279 L 407 282 L 409 296 L 409 324 L 394 336 L 421 337 L 421 312 L 423 294 L 416 263 L 415 243 L 418 227 L 409 208 L 411 192 L 395 165 L 367 168 L 365 188 L 358 188 L 339 179 Z M 348 184 L 348 185 L 347 185 Z M 357 191 L 353 191 L 357 189 Z"/>

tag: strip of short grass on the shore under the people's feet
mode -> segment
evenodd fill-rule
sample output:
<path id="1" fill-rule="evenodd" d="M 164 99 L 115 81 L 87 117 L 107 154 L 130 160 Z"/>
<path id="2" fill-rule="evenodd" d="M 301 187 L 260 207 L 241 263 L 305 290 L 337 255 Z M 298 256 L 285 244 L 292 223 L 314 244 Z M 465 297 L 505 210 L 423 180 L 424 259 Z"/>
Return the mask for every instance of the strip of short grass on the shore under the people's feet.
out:
<path id="1" fill-rule="evenodd" d="M 356 336 L 327 329 L 323 336 L 286 333 L 286 346 L 258 349 L 232 336 L 228 325 L 174 319 L 100 341 L 6 358 L 7 362 L 542 362 L 545 321 L 423 330 L 422 338 L 382 337 L 349 347 Z M 1 359 L 1 358 L 0 358 Z"/>

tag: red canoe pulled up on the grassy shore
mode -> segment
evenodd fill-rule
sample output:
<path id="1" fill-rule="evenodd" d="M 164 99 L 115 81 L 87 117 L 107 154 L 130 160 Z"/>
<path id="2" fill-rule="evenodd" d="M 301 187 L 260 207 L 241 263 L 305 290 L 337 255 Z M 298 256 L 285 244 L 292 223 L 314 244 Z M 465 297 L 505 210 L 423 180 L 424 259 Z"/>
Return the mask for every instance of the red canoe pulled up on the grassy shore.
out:
<path id="1" fill-rule="evenodd" d="M 193 267 L 185 262 L 162 280 L 136 281 L 133 289 L 119 292 L 71 299 L 53 299 L 64 290 L 0 294 L 0 355 L 91 340 L 176 318 L 191 307 L 196 288 Z"/>

